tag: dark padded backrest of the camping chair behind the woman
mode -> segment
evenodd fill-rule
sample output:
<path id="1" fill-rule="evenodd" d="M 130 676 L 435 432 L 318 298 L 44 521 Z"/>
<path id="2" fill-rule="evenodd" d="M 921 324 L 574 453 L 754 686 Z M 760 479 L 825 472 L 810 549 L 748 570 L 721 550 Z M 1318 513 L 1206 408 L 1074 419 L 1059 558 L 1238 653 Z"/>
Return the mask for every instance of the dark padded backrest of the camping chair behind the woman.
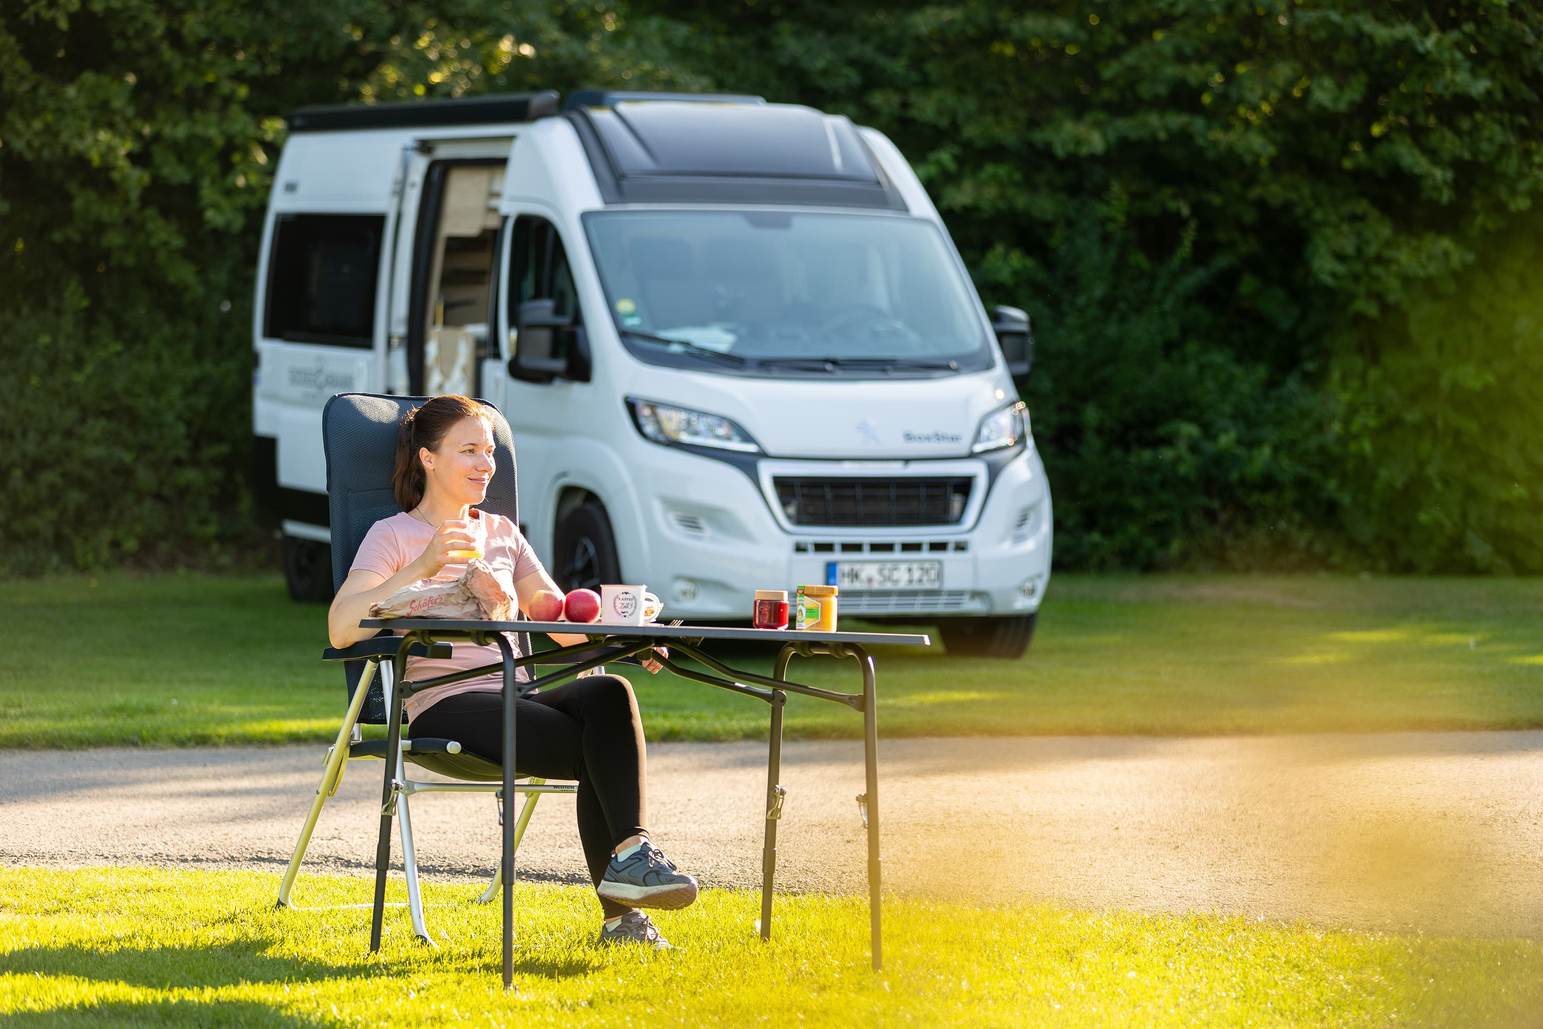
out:
<path id="1" fill-rule="evenodd" d="M 381 393 L 336 393 L 321 410 L 321 446 L 327 458 L 327 511 L 332 521 L 332 582 L 343 585 L 364 534 L 381 518 L 400 514 L 390 477 L 397 464 L 397 427 L 403 415 L 427 403 L 429 396 L 387 396 Z M 492 423 L 494 460 L 498 471 L 488 484 L 486 498 L 477 504 L 520 523 L 518 483 L 514 466 L 514 434 L 498 409 L 481 400 Z M 529 643 L 522 634 L 522 649 Z M 347 662 L 349 699 L 364 671 L 363 662 Z M 360 722 L 383 725 L 386 700 L 380 677 L 370 687 Z"/>

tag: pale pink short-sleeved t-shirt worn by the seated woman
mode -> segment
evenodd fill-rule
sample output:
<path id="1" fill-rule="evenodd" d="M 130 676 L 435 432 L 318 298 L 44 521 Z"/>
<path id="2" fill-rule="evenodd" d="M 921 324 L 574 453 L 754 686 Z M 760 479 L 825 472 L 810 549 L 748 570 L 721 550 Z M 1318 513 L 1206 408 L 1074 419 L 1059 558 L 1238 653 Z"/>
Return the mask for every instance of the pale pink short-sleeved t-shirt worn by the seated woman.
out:
<path id="1" fill-rule="evenodd" d="M 477 511 L 475 508 L 472 509 L 472 515 L 478 517 L 483 523 L 483 538 L 486 540 L 483 543 L 483 560 L 492 565 L 494 569 L 509 569 L 512 582 L 520 582 L 526 575 L 542 571 L 542 562 L 520 534 L 518 526 L 503 515 Z M 390 579 L 423 554 L 423 548 L 429 546 L 429 541 L 434 540 L 434 531 L 435 526 L 420 521 L 406 512 L 381 518 L 364 534 L 364 541 L 360 543 L 360 552 L 353 555 L 353 568 L 350 571 L 364 569 L 375 572 L 381 579 Z M 466 565 L 446 565 L 434 579 L 454 582 L 463 574 L 466 574 Z M 511 634 L 509 642 L 515 643 L 514 653 L 518 656 L 517 637 Z M 466 671 L 468 668 L 478 668 L 481 665 L 494 665 L 501 660 L 497 646 L 474 646 L 461 642 L 455 642 L 451 646 L 452 656 L 449 660 L 409 657 L 407 677 L 421 682 L 423 679 L 447 676 L 454 671 Z M 525 682 L 531 676 L 522 668 L 518 677 Z M 466 682 L 454 682 L 447 687 L 424 690 L 407 697 L 404 705 L 407 719 L 418 717 L 432 703 L 457 693 L 501 688 L 503 674 L 494 673 L 478 679 L 468 679 Z"/>

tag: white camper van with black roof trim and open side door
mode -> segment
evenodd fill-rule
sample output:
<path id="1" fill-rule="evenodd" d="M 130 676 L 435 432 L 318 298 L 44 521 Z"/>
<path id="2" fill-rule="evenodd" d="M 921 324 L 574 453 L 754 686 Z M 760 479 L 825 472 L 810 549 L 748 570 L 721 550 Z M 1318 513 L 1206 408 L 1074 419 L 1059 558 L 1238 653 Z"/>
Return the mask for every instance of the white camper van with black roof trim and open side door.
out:
<path id="1" fill-rule="evenodd" d="M 759 97 L 585 91 L 302 108 L 262 233 L 259 506 L 332 595 L 321 407 L 468 393 L 515 435 L 525 534 L 565 588 L 847 617 L 1021 654 L 1051 495 L 988 316 L 883 134 Z"/>

